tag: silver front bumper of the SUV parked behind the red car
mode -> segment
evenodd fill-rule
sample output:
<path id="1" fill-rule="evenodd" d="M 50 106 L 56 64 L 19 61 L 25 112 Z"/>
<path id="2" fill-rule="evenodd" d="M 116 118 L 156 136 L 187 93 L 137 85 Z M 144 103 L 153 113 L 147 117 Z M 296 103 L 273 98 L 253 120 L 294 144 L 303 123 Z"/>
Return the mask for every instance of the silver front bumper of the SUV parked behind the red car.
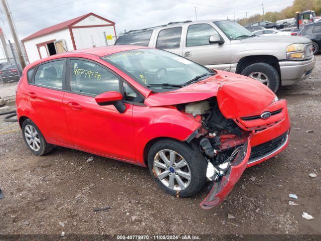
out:
<path id="1" fill-rule="evenodd" d="M 312 56 L 311 59 L 303 61 L 279 61 L 279 65 L 282 86 L 291 85 L 311 75 L 315 65 L 315 58 Z"/>

